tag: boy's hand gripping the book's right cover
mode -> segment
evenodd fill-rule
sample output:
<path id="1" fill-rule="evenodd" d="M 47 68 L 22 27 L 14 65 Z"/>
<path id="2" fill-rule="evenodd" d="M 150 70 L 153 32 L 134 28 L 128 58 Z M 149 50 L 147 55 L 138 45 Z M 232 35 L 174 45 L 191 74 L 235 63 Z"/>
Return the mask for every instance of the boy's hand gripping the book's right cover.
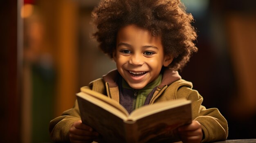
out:
<path id="1" fill-rule="evenodd" d="M 178 134 L 183 143 L 200 143 L 203 138 L 201 124 L 198 121 L 178 128 Z"/>

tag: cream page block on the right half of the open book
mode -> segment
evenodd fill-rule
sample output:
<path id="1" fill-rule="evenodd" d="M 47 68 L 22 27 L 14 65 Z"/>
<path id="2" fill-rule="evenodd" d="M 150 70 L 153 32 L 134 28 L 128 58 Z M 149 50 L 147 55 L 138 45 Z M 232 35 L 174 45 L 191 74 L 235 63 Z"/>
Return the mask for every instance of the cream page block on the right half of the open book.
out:
<path id="1" fill-rule="evenodd" d="M 176 100 L 164 101 L 160 103 L 154 103 L 152 105 L 142 106 L 141 108 L 138 108 L 137 110 L 131 112 L 128 119 L 132 121 L 136 121 L 137 119 L 149 116 L 150 114 L 155 114 L 163 110 L 175 108 L 177 106 L 182 106 L 189 103 L 191 103 L 191 101 L 187 99 L 176 99 Z"/>

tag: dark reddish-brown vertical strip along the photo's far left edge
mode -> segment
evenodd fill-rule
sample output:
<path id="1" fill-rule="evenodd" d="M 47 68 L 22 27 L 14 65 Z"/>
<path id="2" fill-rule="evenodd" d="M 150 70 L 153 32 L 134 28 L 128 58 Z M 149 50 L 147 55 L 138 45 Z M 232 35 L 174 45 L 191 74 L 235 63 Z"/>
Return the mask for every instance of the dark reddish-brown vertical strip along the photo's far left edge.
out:
<path id="1" fill-rule="evenodd" d="M 19 142 L 20 97 L 18 96 L 17 2 L 0 6 L 0 142 Z"/>

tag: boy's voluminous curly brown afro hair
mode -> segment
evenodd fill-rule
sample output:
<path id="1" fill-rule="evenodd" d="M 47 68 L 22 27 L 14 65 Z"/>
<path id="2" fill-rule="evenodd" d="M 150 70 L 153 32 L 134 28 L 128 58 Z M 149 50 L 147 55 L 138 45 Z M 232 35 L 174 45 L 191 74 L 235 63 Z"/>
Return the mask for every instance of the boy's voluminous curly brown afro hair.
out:
<path id="1" fill-rule="evenodd" d="M 161 36 L 165 55 L 174 57 L 168 66 L 173 70 L 181 70 L 198 50 L 193 43 L 197 34 L 191 22 L 193 16 L 186 13 L 180 0 L 101 0 L 92 11 L 92 24 L 97 26 L 93 36 L 110 58 L 119 29 L 135 24 L 153 36 Z"/>

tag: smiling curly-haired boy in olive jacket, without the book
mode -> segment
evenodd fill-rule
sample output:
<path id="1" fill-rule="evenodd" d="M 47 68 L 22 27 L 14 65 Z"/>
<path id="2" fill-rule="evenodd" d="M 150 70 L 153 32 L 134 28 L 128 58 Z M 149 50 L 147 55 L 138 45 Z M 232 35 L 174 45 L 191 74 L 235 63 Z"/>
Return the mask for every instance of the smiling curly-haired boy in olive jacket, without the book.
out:
<path id="1" fill-rule="evenodd" d="M 128 112 L 177 98 L 192 101 L 189 125 L 177 129 L 184 143 L 227 139 L 227 121 L 218 109 L 206 109 L 181 70 L 197 51 L 193 17 L 180 0 L 102 0 L 92 12 L 101 50 L 114 59 L 117 70 L 92 81 L 88 88 L 118 101 Z M 137 95 L 137 96 L 135 96 Z M 104 127 L 103 127 L 104 128 Z M 92 142 L 99 134 L 81 122 L 74 108 L 50 122 L 53 141 Z M 171 142 L 171 141 L 170 141 Z"/>

